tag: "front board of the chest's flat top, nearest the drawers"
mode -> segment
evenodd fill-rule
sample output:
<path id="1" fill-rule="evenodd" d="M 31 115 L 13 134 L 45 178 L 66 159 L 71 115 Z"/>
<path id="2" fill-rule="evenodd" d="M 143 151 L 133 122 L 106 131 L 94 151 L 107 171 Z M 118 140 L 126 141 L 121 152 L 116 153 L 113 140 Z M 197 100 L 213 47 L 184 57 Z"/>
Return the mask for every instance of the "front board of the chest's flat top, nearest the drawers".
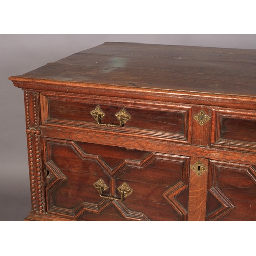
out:
<path id="1" fill-rule="evenodd" d="M 104 74 L 104 76 L 99 77 L 99 73 Z M 45 74 L 44 77 L 42 77 L 42 74 Z M 158 69 L 155 72 L 146 69 L 144 72 L 141 72 L 140 69 L 102 69 L 101 67 L 94 66 L 49 63 L 39 70 L 27 73 L 22 78 L 31 77 L 34 79 L 44 78 L 46 80 L 65 81 L 67 77 L 68 80 L 73 80 L 72 76 L 74 74 L 76 74 L 76 82 L 83 82 L 84 77 L 87 77 L 88 83 L 110 84 L 115 86 L 122 84 L 132 88 L 155 88 L 156 84 L 158 85 L 159 81 L 161 81 L 161 88 L 166 90 L 191 90 L 204 93 L 219 93 L 221 91 L 223 94 L 249 95 L 255 97 L 255 92 L 249 90 L 250 85 L 256 81 L 255 77 L 207 74 L 206 79 L 205 74 L 200 73 L 200 69 L 197 72 L 191 73 L 176 73 L 171 69 Z M 143 74 L 143 76 L 141 76 L 141 74 Z M 123 78 L 130 78 L 130 80 Z M 171 88 L 170 84 L 172 84 Z M 233 88 L 236 88 L 236 90 Z"/>

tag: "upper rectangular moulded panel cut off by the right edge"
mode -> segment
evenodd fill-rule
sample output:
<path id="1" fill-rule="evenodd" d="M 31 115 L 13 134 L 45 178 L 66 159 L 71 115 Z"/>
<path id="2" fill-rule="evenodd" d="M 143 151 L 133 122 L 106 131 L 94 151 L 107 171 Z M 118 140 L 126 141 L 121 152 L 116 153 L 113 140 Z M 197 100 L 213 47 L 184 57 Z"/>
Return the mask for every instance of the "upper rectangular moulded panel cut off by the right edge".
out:
<path id="1" fill-rule="evenodd" d="M 214 110 L 213 146 L 256 151 L 256 112 Z"/>

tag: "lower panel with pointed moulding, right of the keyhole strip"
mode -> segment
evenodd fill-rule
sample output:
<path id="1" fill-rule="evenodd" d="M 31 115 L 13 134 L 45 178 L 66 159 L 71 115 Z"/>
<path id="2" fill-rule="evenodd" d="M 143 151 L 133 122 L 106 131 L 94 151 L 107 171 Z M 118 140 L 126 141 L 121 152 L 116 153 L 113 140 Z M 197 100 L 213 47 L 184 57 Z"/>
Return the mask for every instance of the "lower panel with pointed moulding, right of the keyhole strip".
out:
<path id="1" fill-rule="evenodd" d="M 206 220 L 256 221 L 255 167 L 210 160 Z"/>

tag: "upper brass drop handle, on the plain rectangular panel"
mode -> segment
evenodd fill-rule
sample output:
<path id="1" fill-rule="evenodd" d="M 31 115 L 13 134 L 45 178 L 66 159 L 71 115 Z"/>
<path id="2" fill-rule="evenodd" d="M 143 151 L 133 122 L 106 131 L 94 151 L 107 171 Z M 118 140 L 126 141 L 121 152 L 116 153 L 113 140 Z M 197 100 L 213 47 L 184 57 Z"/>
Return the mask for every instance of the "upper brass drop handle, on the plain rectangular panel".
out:
<path id="1" fill-rule="evenodd" d="M 132 118 L 124 108 L 122 108 L 119 112 L 115 114 L 115 116 L 119 120 L 119 125 L 112 123 L 101 123 L 101 119 L 105 117 L 105 113 L 100 108 L 100 106 L 96 106 L 94 110 L 90 111 L 90 114 L 97 121 L 98 125 L 107 127 L 122 127 L 128 120 Z"/>

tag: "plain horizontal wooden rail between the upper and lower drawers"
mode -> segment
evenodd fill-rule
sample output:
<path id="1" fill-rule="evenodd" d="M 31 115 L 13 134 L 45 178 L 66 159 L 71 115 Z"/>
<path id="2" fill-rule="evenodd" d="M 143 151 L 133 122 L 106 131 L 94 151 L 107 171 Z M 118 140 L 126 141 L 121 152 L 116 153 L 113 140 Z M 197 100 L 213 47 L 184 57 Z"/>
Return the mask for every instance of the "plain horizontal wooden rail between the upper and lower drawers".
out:
<path id="1" fill-rule="evenodd" d="M 206 147 L 197 145 L 186 145 L 183 143 L 175 143 L 166 141 L 162 138 L 153 138 L 150 136 L 142 136 L 138 134 L 128 134 L 121 131 L 94 129 L 82 129 L 82 127 L 63 127 L 55 126 L 41 126 L 42 136 L 70 139 L 81 142 L 89 142 L 106 145 L 124 145 L 125 148 L 136 148 L 142 151 L 147 151 L 150 148 L 154 152 L 175 154 L 182 156 L 200 156 L 202 158 L 210 158 L 213 160 L 237 162 L 241 164 L 256 165 L 256 155 L 252 152 L 239 150 L 225 150 L 223 148 Z M 72 129 L 72 133 L 70 132 Z M 254 150 L 255 151 L 255 150 Z"/>

